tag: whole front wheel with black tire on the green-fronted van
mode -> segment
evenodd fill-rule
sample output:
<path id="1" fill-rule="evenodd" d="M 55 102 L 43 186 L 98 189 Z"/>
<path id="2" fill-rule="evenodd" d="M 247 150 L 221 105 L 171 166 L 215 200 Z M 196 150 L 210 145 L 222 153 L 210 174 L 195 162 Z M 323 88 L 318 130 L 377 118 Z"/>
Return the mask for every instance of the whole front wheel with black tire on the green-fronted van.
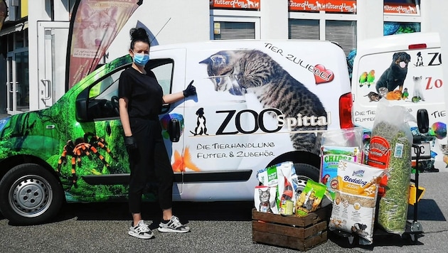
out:
<path id="1" fill-rule="evenodd" d="M 50 171 L 24 163 L 0 181 L 0 210 L 13 225 L 34 225 L 54 217 L 63 204 L 63 188 Z"/>

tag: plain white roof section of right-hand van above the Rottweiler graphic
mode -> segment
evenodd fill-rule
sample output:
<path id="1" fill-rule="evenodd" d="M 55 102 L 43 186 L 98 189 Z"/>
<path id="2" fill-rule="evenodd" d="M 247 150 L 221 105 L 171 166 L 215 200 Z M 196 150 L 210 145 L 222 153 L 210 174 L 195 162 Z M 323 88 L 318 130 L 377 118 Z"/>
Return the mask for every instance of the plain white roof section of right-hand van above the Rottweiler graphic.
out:
<path id="1" fill-rule="evenodd" d="M 439 48 L 439 33 L 402 33 L 358 41 L 357 54 L 408 50 L 409 45 L 415 44 L 426 44 L 427 48 Z"/>

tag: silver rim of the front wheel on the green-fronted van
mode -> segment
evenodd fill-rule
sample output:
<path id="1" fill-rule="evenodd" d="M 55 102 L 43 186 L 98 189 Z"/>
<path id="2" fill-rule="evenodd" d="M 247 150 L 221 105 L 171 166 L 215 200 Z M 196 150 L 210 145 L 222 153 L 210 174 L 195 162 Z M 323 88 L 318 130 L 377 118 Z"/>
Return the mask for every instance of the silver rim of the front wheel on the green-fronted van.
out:
<path id="1" fill-rule="evenodd" d="M 14 212 L 23 217 L 36 217 L 51 205 L 53 191 L 45 178 L 28 175 L 19 178 L 9 191 L 9 203 Z"/>

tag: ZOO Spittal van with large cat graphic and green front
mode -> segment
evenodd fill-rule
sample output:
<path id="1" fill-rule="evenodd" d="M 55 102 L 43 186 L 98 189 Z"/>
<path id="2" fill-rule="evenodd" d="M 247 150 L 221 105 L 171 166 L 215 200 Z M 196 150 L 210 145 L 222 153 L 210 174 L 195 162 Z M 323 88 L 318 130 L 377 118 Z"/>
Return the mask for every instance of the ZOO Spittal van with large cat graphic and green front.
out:
<path id="1" fill-rule="evenodd" d="M 343 50 L 329 41 L 208 41 L 151 47 L 146 69 L 164 94 L 197 95 L 160 114 L 174 200 L 253 200 L 257 171 L 292 161 L 319 180 L 319 136 L 352 127 Z M 127 200 L 129 162 L 118 112 L 123 56 L 52 107 L 0 120 L 0 210 L 33 224 L 62 203 Z M 145 200 L 156 196 L 145 194 Z"/>

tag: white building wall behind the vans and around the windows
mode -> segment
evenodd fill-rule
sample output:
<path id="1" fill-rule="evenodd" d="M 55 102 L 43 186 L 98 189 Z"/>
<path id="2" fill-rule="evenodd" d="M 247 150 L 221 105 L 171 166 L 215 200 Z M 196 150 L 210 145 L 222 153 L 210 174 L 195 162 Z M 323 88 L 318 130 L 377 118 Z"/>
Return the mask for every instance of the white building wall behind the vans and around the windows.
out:
<path id="1" fill-rule="evenodd" d="M 243 0 L 240 0 L 243 1 Z M 298 0 L 297 0 L 298 1 Z M 69 21 L 69 0 L 54 0 L 54 11 L 50 0 L 23 1 L 28 5 L 28 38 L 30 64 L 30 108 L 39 109 L 42 103 L 37 94 L 42 90 L 38 81 L 38 21 Z M 73 0 L 71 0 L 73 2 Z M 213 39 L 214 21 L 255 21 L 255 38 L 288 39 L 289 19 L 319 20 L 320 39 L 326 38 L 325 23 L 329 20 L 356 21 L 356 40 L 383 36 L 383 21 L 421 23 L 421 31 L 442 31 L 444 23 L 439 10 L 447 9 L 448 1 L 425 0 L 420 4 L 418 15 L 384 14 L 383 1 L 356 1 L 357 14 L 328 14 L 325 11 L 289 11 L 289 0 L 259 0 L 260 9 L 210 9 L 210 1 L 204 0 L 144 0 L 107 51 L 106 62 L 127 54 L 129 48 L 129 29 L 144 26 L 156 36 L 153 45 L 208 41 Z M 306 1 L 311 4 L 314 1 Z M 0 64 L 1 66 L 1 64 Z M 65 84 L 58 84 L 65 85 Z M 0 90 L 0 97 L 6 97 Z M 1 106 L 1 104 L 0 104 Z"/>

